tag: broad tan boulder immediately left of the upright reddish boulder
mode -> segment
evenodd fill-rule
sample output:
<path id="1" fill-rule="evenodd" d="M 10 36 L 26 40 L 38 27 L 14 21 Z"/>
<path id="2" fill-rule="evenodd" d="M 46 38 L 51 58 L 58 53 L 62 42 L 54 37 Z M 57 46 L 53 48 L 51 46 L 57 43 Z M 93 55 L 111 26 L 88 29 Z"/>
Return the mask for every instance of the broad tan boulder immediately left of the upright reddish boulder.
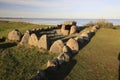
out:
<path id="1" fill-rule="evenodd" d="M 64 43 L 62 40 L 55 41 L 50 47 L 50 52 L 52 53 L 62 53 L 64 47 Z"/>

